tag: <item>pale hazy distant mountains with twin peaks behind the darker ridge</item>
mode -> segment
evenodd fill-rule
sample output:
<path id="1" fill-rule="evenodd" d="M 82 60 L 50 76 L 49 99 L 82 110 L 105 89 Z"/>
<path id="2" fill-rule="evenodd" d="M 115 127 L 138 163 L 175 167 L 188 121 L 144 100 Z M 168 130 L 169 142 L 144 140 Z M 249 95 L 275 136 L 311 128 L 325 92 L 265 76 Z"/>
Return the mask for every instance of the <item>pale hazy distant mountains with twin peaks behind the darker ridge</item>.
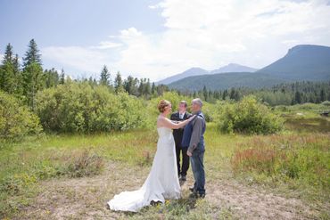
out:
<path id="1" fill-rule="evenodd" d="M 206 75 L 206 74 L 215 74 L 215 73 L 224 73 L 224 72 L 254 72 L 256 70 L 258 69 L 245 67 L 236 63 L 229 63 L 227 66 L 210 71 L 202 68 L 191 68 L 172 77 L 164 78 L 161 81 L 157 82 L 157 84 L 169 85 L 170 83 L 180 80 L 181 78 Z"/>

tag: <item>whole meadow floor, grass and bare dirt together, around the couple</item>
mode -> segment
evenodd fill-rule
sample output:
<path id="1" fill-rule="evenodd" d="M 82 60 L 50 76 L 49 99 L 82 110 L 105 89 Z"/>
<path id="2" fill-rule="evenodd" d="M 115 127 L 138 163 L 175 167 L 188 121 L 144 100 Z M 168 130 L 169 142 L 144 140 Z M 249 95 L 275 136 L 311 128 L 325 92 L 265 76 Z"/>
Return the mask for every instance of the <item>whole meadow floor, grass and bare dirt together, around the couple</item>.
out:
<path id="1" fill-rule="evenodd" d="M 44 134 L 0 149 L 0 219 L 329 219 L 329 119 L 284 111 L 273 135 L 206 132 L 205 200 L 188 198 L 138 214 L 107 209 L 114 194 L 144 183 L 156 129 L 112 134 Z"/>

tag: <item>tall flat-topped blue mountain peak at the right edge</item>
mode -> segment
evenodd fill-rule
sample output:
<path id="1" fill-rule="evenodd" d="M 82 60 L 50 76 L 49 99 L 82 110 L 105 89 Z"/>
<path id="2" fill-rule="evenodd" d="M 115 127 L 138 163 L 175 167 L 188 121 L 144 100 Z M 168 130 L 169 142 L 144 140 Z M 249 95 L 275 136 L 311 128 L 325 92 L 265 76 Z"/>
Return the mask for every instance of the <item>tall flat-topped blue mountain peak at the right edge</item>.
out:
<path id="1" fill-rule="evenodd" d="M 330 47 L 296 45 L 286 55 L 258 70 L 290 81 L 319 81 L 330 78 Z"/>

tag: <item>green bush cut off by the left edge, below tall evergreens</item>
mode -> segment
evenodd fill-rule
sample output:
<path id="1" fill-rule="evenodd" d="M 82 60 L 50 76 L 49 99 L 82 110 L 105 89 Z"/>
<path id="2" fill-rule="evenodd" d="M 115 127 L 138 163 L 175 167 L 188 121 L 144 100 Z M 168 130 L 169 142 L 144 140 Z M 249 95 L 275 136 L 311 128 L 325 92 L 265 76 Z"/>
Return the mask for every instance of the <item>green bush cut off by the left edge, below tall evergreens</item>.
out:
<path id="1" fill-rule="evenodd" d="M 0 140 L 18 140 L 42 130 L 39 119 L 27 106 L 0 91 Z"/>

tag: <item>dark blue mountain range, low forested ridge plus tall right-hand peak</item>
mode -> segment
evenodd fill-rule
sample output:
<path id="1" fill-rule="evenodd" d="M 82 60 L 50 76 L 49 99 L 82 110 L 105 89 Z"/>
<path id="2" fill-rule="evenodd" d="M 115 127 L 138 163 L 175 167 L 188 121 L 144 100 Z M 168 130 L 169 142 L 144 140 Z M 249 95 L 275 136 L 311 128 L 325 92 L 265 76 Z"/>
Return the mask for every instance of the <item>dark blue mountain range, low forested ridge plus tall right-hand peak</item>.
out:
<path id="1" fill-rule="evenodd" d="M 284 82 L 330 80 L 330 47 L 297 45 L 286 55 L 256 72 L 230 72 L 181 78 L 169 84 L 179 90 L 274 86 Z"/>

